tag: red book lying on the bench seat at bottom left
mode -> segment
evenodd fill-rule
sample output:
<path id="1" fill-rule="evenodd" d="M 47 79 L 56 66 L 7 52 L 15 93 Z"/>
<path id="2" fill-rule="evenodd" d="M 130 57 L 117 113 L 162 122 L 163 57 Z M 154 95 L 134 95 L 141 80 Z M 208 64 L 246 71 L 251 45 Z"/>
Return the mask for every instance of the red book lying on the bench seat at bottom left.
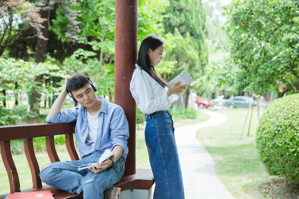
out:
<path id="1" fill-rule="evenodd" d="M 53 199 L 51 191 L 8 194 L 7 199 Z"/>

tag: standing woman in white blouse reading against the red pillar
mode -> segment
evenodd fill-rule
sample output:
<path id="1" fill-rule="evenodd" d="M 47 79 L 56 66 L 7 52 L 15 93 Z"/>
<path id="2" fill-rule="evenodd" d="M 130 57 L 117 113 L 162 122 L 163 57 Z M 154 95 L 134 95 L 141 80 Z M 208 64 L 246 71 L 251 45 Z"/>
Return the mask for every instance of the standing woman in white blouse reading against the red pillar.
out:
<path id="1" fill-rule="evenodd" d="M 182 93 L 188 85 L 167 83 L 155 72 L 162 60 L 163 41 L 148 36 L 140 46 L 136 69 L 130 83 L 130 91 L 138 107 L 146 114 L 145 138 L 150 167 L 155 180 L 154 199 L 184 199 L 184 188 L 174 128 L 168 108 L 175 94 Z"/>

